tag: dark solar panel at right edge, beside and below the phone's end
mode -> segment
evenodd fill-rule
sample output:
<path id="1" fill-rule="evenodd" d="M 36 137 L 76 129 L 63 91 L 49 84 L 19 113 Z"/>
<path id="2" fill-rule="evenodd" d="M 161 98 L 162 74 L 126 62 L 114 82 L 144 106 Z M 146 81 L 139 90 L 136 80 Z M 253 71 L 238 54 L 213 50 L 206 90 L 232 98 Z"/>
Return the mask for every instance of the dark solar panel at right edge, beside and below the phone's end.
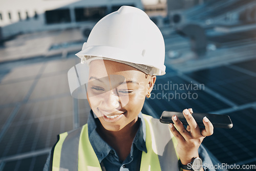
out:
<path id="1" fill-rule="evenodd" d="M 222 163 L 233 164 L 256 158 L 256 110 L 249 108 L 227 115 L 233 122 L 232 129 L 215 129 L 203 144 Z"/>

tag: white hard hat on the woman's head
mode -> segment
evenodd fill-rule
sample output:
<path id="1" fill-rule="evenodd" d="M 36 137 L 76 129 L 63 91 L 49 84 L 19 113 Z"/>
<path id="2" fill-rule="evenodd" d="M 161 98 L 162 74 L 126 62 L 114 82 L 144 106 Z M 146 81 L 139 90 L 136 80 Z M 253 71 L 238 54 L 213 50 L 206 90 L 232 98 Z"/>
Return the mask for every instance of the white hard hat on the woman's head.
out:
<path id="1" fill-rule="evenodd" d="M 147 14 L 135 7 L 122 6 L 99 20 L 82 50 L 76 54 L 104 57 L 152 67 L 151 75 L 164 75 L 164 39 Z"/>

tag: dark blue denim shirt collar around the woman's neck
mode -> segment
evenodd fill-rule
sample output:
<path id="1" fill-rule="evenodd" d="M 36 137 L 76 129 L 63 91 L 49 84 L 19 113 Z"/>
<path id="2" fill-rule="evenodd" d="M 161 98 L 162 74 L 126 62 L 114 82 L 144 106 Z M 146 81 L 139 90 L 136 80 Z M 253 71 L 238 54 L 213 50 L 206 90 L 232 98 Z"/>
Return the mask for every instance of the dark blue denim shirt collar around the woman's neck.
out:
<path id="1" fill-rule="evenodd" d="M 140 151 L 144 151 L 145 153 L 147 153 L 146 125 L 141 112 L 138 115 L 138 121 L 140 122 L 140 126 L 134 137 L 133 145 L 135 145 Z M 100 121 L 98 118 L 96 118 L 96 115 L 91 110 L 88 117 L 88 135 L 94 152 L 98 157 L 99 162 L 101 162 L 106 156 L 108 156 L 110 152 L 114 152 L 114 149 L 108 143 L 106 143 L 97 133 L 97 124 L 100 124 Z"/>

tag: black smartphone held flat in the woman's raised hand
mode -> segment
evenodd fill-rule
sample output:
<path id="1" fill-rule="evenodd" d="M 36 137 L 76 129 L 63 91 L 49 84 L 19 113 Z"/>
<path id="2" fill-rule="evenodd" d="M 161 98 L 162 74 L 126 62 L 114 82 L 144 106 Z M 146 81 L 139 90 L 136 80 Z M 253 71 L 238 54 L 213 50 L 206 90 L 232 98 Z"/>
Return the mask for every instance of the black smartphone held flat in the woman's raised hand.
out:
<path id="1" fill-rule="evenodd" d="M 173 123 L 172 116 L 177 115 L 183 125 L 188 125 L 182 112 L 168 112 L 163 111 L 160 118 L 161 123 Z M 220 127 L 224 129 L 231 129 L 233 123 L 228 115 L 217 115 L 217 114 L 206 114 L 206 113 L 193 113 L 192 116 L 195 118 L 199 126 L 204 126 L 203 118 L 206 116 L 214 127 Z"/>

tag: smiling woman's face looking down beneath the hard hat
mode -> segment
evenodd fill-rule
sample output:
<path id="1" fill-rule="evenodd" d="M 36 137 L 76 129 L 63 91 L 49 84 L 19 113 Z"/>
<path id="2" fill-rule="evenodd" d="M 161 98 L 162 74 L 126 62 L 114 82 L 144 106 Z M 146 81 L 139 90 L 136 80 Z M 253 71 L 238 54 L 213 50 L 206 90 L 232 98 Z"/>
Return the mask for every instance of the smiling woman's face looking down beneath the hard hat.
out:
<path id="1" fill-rule="evenodd" d="M 156 76 L 110 60 L 90 63 L 88 101 L 104 129 L 119 131 L 138 119 Z"/>

